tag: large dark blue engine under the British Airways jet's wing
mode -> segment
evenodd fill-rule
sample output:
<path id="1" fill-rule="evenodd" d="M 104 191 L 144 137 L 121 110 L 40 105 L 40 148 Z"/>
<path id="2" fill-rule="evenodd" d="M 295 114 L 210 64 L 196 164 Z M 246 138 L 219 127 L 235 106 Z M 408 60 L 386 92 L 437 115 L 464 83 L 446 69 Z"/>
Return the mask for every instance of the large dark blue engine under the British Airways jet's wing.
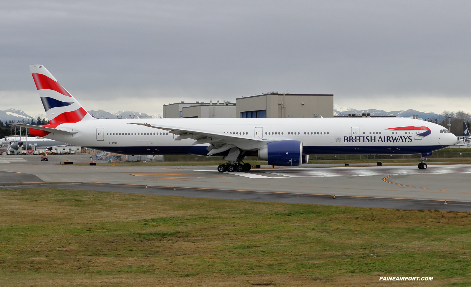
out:
<path id="1" fill-rule="evenodd" d="M 302 163 L 302 142 L 299 140 L 280 140 L 269 142 L 259 149 L 259 158 L 269 165 L 297 166 Z"/>

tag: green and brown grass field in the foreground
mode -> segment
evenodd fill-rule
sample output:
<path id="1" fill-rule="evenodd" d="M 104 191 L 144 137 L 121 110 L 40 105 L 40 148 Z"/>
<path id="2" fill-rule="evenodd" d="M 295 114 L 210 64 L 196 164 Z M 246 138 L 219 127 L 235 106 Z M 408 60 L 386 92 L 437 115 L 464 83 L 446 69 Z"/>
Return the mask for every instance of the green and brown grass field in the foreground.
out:
<path id="1" fill-rule="evenodd" d="M 470 286 L 471 213 L 1 189 L 1 286 Z M 433 281 L 379 282 L 380 276 Z"/>

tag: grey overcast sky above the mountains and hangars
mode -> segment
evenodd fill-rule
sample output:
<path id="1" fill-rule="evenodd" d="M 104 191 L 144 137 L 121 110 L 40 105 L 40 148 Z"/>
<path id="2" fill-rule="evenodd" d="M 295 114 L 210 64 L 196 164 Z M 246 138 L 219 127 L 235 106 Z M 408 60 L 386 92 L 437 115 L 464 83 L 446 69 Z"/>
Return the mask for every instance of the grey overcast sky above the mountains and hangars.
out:
<path id="1" fill-rule="evenodd" d="M 44 113 L 28 65 L 87 110 L 334 94 L 471 111 L 470 1 L 1 1 L 0 109 Z"/>

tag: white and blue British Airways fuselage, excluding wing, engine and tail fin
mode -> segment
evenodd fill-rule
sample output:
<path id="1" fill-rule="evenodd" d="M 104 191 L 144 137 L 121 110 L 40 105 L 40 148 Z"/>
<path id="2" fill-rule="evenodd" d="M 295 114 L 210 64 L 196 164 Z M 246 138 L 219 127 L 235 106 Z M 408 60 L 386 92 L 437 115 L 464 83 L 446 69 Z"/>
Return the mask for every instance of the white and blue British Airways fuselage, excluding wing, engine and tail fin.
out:
<path id="1" fill-rule="evenodd" d="M 417 154 L 456 142 L 452 133 L 440 132 L 444 127 L 409 118 L 100 119 L 60 124 L 57 129 L 77 133 L 49 133 L 45 138 L 132 155 L 206 155 L 208 152 L 206 147 L 209 144 L 193 145 L 194 139 L 174 140 L 177 135 L 168 130 L 130 123 L 243 133 L 244 136 L 259 136 L 267 140 L 294 139 L 302 142 L 303 154 L 306 155 Z M 103 131 L 102 138 L 97 135 L 97 129 Z M 245 149 L 256 151 L 262 144 Z"/>

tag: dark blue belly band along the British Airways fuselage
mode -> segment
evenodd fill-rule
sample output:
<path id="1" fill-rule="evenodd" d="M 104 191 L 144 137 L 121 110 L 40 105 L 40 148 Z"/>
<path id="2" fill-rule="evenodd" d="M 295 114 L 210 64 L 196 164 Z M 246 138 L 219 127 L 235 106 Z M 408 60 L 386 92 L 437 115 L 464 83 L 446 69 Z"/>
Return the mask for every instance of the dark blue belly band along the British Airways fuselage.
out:
<path id="1" fill-rule="evenodd" d="M 206 147 L 88 147 L 122 155 L 195 155 L 206 156 Z M 412 155 L 436 151 L 445 146 L 303 146 L 304 155 Z M 213 156 L 227 156 L 228 151 Z"/>

